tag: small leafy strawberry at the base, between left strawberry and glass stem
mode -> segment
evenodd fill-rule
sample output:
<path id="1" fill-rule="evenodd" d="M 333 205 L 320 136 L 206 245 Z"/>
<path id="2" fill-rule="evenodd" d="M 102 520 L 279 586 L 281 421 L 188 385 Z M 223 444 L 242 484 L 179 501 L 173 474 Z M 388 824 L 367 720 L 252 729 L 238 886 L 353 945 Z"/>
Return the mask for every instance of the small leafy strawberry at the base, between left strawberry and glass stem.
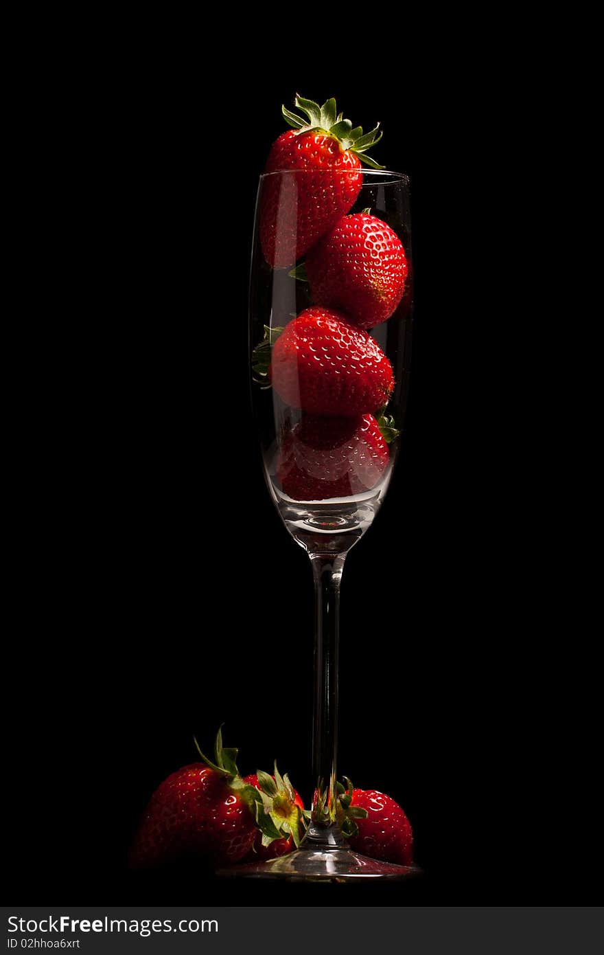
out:
<path id="1" fill-rule="evenodd" d="M 300 845 L 305 826 L 300 793 L 296 792 L 287 775 L 281 776 L 277 764 L 275 775 L 259 770 L 258 774 L 245 776 L 243 781 L 259 791 L 265 809 L 265 817 L 261 820 L 262 832 L 256 834 L 250 859 L 275 859 L 292 852 Z M 275 838 L 275 834 L 270 832 L 271 824 L 280 838 Z"/>

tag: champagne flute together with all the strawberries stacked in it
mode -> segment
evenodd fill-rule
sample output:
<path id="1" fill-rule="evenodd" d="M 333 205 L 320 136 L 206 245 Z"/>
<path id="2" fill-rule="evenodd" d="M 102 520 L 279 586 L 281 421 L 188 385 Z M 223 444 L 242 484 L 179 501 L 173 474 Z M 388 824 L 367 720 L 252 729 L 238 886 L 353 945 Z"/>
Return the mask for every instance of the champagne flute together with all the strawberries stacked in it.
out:
<path id="1" fill-rule="evenodd" d="M 329 878 L 335 866 L 344 879 L 400 878 L 394 870 L 405 867 L 368 866 L 344 845 L 337 660 L 344 560 L 375 518 L 401 455 L 412 300 L 408 180 L 367 155 L 378 128 L 364 134 L 334 100 L 319 106 L 298 96 L 296 112 L 283 107 L 283 117 L 293 128 L 275 141 L 260 177 L 251 373 L 268 489 L 315 577 L 315 798 L 300 849 L 265 863 L 264 872 Z"/>

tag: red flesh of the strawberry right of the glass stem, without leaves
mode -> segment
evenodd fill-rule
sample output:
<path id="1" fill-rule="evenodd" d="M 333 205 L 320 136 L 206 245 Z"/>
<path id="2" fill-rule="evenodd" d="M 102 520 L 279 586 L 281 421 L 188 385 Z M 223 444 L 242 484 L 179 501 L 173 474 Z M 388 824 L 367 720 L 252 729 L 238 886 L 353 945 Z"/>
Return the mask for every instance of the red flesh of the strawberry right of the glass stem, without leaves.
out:
<path id="1" fill-rule="evenodd" d="M 348 839 L 350 847 L 371 859 L 411 865 L 413 833 L 398 802 L 375 789 L 355 789 L 352 805 L 366 809 L 367 817 L 355 819 L 359 834 Z"/>

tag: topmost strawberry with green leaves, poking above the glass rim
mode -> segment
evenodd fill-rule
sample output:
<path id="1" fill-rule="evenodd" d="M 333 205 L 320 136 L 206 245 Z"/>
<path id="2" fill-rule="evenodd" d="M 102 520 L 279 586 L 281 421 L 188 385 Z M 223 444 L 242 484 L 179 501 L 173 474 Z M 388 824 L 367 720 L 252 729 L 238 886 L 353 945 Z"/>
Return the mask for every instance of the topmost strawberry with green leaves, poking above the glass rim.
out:
<path id="1" fill-rule="evenodd" d="M 260 244 L 274 268 L 293 265 L 350 209 L 361 191 L 361 162 L 384 168 L 364 155 L 382 138 L 378 126 L 365 135 L 361 126 L 353 129 L 342 113 L 336 116 L 335 99 L 319 106 L 296 96 L 296 106 L 305 117 L 281 108 L 294 129 L 275 140 L 264 169 L 293 175 L 262 182 Z"/>

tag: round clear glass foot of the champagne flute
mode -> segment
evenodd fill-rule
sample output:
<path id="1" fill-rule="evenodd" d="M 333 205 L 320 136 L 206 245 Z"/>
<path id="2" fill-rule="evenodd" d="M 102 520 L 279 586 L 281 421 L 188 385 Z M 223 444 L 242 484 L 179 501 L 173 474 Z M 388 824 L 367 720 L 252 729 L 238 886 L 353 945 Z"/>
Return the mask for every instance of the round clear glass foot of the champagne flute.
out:
<path id="1" fill-rule="evenodd" d="M 219 869 L 217 875 L 289 881 L 400 880 L 421 872 L 416 865 L 394 865 L 369 859 L 352 849 L 302 848 L 268 862 L 247 862 Z"/>

